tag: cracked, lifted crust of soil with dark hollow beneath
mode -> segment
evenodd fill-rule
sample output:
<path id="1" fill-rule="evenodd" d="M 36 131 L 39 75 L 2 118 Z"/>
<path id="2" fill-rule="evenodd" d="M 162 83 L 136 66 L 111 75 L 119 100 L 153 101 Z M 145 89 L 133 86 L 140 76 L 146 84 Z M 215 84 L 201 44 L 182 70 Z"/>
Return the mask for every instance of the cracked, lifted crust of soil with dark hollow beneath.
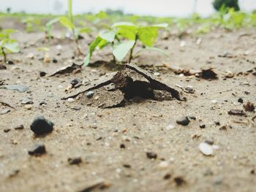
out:
<path id="1" fill-rule="evenodd" d="M 99 77 L 82 91 L 76 91 L 63 99 L 82 99 L 87 105 L 101 108 L 124 106 L 125 101 L 154 99 L 157 101 L 181 99 L 180 93 L 159 82 L 148 72 L 134 64 L 126 64 L 124 69 Z M 81 89 L 80 88 L 80 89 Z M 93 90 L 93 94 L 92 94 Z"/>

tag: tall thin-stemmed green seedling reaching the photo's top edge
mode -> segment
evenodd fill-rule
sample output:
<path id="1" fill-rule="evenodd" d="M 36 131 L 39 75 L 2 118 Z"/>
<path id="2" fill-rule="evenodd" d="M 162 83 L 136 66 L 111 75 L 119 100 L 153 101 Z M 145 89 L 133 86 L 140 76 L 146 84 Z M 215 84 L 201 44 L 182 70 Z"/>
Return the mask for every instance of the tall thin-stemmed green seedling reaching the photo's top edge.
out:
<path id="1" fill-rule="evenodd" d="M 61 23 L 62 26 L 66 27 L 69 31 L 72 32 L 72 37 L 75 41 L 75 45 L 78 50 L 78 54 L 83 54 L 80 50 L 79 44 L 78 44 L 78 37 L 79 34 L 87 33 L 90 31 L 89 28 L 77 28 L 74 23 L 73 14 L 72 14 L 72 0 L 68 0 L 68 12 L 67 16 L 61 16 L 59 18 L 54 18 L 53 20 L 50 20 L 48 23 L 46 23 L 45 31 L 47 34 L 47 37 L 50 39 L 53 37 L 52 35 L 52 29 L 54 23 Z"/>

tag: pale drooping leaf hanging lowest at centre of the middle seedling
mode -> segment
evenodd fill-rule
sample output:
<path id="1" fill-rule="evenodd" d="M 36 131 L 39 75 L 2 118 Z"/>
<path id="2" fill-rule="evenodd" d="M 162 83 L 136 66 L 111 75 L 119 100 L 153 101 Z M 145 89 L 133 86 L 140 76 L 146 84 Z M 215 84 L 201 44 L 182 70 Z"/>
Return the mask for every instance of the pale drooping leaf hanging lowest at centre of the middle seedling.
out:
<path id="1" fill-rule="evenodd" d="M 121 42 L 113 47 L 113 55 L 118 61 L 122 61 L 133 45 L 135 45 L 135 41 Z"/>

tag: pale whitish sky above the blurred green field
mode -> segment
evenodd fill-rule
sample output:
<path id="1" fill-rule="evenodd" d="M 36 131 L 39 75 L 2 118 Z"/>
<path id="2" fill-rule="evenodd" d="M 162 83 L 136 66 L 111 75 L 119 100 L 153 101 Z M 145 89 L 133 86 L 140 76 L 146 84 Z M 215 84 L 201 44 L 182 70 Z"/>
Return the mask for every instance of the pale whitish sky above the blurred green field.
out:
<path id="1" fill-rule="evenodd" d="M 96 13 L 101 10 L 119 10 L 126 14 L 187 17 L 197 12 L 207 17 L 215 12 L 213 0 L 74 0 L 74 14 Z M 256 9 L 256 0 L 240 0 L 243 12 Z M 0 0 L 0 11 L 37 14 L 64 14 L 66 0 Z"/>

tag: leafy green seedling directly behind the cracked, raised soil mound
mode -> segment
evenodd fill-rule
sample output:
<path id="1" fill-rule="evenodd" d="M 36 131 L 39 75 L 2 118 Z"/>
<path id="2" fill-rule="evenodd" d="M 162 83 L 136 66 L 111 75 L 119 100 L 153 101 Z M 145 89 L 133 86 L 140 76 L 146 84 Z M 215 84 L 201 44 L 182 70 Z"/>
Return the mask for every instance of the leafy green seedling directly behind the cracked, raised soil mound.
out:
<path id="1" fill-rule="evenodd" d="M 129 53 L 128 62 L 134 57 L 134 49 L 137 42 L 140 41 L 145 48 L 144 50 L 159 50 L 153 47 L 157 39 L 159 28 L 166 28 L 167 24 L 159 24 L 154 26 L 135 26 L 133 23 L 118 22 L 108 27 L 108 30 L 102 31 L 89 45 L 89 52 L 84 59 L 84 64 L 89 65 L 91 55 L 99 47 L 102 49 L 106 45 L 111 45 L 113 49 L 113 58 L 117 61 L 123 61 L 124 57 Z"/>

